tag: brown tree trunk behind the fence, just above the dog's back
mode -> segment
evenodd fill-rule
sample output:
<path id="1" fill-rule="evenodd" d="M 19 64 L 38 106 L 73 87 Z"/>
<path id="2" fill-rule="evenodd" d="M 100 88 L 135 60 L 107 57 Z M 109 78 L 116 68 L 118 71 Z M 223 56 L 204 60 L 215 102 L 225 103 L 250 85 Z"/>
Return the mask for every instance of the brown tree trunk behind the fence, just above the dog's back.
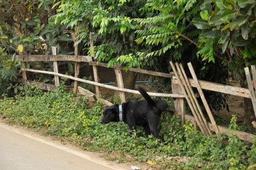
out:
<path id="1" fill-rule="evenodd" d="M 130 71 L 123 71 L 123 83 L 126 89 L 134 89 L 137 73 Z M 126 101 L 130 101 L 129 95 L 126 93 Z"/>

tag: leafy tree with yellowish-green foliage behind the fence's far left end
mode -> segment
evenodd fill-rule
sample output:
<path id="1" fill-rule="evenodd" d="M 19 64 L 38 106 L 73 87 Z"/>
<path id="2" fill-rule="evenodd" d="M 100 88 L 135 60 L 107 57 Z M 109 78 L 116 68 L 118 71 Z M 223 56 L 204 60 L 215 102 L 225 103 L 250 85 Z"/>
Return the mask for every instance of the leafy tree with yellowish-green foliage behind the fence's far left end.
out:
<path id="1" fill-rule="evenodd" d="M 53 1 L 0 1 L 0 84 L 6 93 L 12 89 L 16 93 L 17 84 L 13 79 L 18 74 L 19 63 L 14 61 L 16 54 L 42 55 L 51 51 L 51 46 L 58 47 L 71 40 L 64 34 L 64 28 L 50 20 L 54 13 Z M 43 62 L 30 62 L 27 67 L 44 67 Z M 36 74 L 34 78 L 43 75 Z M 11 88 L 10 88 L 11 87 Z"/>

